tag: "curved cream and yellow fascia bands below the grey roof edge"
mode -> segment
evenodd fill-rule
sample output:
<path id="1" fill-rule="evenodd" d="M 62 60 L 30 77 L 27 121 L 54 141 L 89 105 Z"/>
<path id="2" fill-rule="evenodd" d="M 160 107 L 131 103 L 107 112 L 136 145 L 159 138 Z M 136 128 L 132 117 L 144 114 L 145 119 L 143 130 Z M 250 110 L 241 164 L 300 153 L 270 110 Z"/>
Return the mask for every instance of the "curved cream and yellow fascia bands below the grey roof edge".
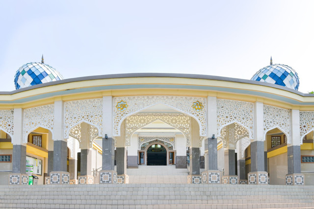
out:
<path id="1" fill-rule="evenodd" d="M 80 88 L 89 88 L 89 87 L 99 87 L 99 86 L 119 86 L 119 85 L 140 85 L 140 84 L 165 84 L 165 85 L 184 85 L 186 86 L 183 89 L 121 89 L 121 90 L 101 90 L 101 91 L 93 91 L 93 92 L 84 92 L 84 93 L 71 93 L 70 95 L 56 95 L 49 98 L 39 99 L 29 101 L 23 104 L 15 104 L 14 100 L 27 98 L 29 96 L 36 96 L 43 93 L 53 93 L 53 92 L 61 92 L 66 91 L 68 89 L 80 89 Z M 201 79 L 201 78 L 180 78 L 180 77 L 126 77 L 126 78 L 104 78 L 97 80 L 84 80 L 84 81 L 75 81 L 68 82 L 64 84 L 57 84 L 42 88 L 35 88 L 28 91 L 23 91 L 20 93 L 14 93 L 12 95 L 0 95 L 0 100 L 2 101 L 11 101 L 10 104 L 1 104 L 0 109 L 11 109 L 11 108 L 28 108 L 32 106 L 40 106 L 44 104 L 52 104 L 53 101 L 57 99 L 61 99 L 64 101 L 74 100 L 74 99 L 87 99 L 87 98 L 101 98 L 105 95 L 112 96 L 130 96 L 134 95 L 185 95 L 185 96 L 202 96 L 207 97 L 210 95 L 217 96 L 217 98 L 228 98 L 228 99 L 239 99 L 243 101 L 262 101 L 264 104 L 274 105 L 278 107 L 283 107 L 286 109 L 300 109 L 300 110 L 314 110 L 313 105 L 293 105 L 281 100 L 270 99 L 269 97 L 263 96 L 254 96 L 254 95 L 246 95 L 241 93 L 226 93 L 226 92 L 218 92 L 218 91 L 207 91 L 207 90 L 192 90 L 190 86 L 215 86 L 215 87 L 223 87 L 229 89 L 241 89 L 241 90 L 249 90 L 256 92 L 263 92 L 267 94 L 273 95 L 281 95 L 287 98 L 294 99 L 300 102 L 314 102 L 314 97 L 307 97 L 298 95 L 296 93 L 288 92 L 281 89 L 276 89 L 273 87 L 261 86 L 258 84 L 249 84 L 249 83 L 237 83 L 233 81 L 221 81 L 221 80 L 209 80 L 209 79 Z"/>

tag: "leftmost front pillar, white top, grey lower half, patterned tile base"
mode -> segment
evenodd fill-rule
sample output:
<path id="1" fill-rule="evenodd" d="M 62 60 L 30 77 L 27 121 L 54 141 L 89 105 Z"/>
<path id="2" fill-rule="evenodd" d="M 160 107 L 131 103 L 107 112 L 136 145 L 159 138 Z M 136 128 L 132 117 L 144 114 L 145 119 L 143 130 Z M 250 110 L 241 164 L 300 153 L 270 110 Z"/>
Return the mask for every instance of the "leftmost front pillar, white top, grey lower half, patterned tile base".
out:
<path id="1" fill-rule="evenodd" d="M 12 155 L 12 173 L 9 175 L 10 185 L 27 185 L 28 176 L 26 175 L 26 141 L 23 141 L 23 121 L 24 111 L 22 108 L 14 109 L 14 136 L 13 155 Z M 12 124 L 13 125 L 13 124 Z"/>

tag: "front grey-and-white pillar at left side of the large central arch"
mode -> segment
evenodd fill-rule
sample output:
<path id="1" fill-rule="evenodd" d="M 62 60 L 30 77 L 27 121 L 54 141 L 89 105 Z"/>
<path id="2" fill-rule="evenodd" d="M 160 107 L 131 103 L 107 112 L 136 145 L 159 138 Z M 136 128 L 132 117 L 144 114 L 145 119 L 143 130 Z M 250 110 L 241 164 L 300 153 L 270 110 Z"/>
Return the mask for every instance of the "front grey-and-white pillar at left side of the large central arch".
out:
<path id="1" fill-rule="evenodd" d="M 99 171 L 100 184 L 116 184 L 114 171 L 113 99 L 103 96 L 103 169 Z"/>

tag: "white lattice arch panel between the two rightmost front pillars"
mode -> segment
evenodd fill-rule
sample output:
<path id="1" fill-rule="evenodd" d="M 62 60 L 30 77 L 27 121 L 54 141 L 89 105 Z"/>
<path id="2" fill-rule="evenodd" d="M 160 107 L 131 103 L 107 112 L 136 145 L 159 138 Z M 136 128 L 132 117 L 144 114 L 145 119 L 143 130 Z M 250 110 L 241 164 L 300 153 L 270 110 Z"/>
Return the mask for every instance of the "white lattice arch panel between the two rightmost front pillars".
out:
<path id="1" fill-rule="evenodd" d="M 263 105 L 264 112 L 264 139 L 266 133 L 274 128 L 279 128 L 287 136 L 287 142 L 291 143 L 290 138 L 290 111 L 287 109 Z"/>

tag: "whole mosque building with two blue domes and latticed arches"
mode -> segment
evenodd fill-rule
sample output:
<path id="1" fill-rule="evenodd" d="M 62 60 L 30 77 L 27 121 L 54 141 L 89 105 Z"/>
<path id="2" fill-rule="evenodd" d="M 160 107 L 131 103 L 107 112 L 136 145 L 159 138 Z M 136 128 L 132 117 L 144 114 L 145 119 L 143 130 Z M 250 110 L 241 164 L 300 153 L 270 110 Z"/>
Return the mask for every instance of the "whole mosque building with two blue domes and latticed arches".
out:
<path id="1" fill-rule="evenodd" d="M 189 184 L 314 185 L 314 95 L 272 59 L 251 80 L 63 79 L 42 57 L 14 83 L 0 92 L 1 185 L 128 184 L 127 167 L 151 165 L 188 169 Z"/>

